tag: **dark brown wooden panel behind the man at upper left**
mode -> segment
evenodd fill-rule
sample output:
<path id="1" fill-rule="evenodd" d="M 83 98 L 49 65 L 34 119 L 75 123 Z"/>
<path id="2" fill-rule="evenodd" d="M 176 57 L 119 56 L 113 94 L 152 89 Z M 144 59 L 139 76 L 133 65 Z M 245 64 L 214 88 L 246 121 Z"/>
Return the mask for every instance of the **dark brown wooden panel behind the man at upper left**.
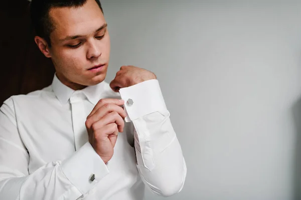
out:
<path id="1" fill-rule="evenodd" d="M 4 1 L 0 7 L 0 103 L 51 84 L 54 67 L 34 42 L 29 2 Z"/>

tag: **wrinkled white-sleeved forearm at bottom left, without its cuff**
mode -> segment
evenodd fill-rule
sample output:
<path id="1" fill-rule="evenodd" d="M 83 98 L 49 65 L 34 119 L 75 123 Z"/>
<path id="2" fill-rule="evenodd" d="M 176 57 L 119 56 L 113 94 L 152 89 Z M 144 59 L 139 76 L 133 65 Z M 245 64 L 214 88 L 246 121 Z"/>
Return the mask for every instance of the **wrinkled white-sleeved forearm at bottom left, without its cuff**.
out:
<path id="1" fill-rule="evenodd" d="M 3 199 L 77 199 L 82 194 L 67 179 L 60 162 L 48 163 L 31 175 L 0 181 Z"/>

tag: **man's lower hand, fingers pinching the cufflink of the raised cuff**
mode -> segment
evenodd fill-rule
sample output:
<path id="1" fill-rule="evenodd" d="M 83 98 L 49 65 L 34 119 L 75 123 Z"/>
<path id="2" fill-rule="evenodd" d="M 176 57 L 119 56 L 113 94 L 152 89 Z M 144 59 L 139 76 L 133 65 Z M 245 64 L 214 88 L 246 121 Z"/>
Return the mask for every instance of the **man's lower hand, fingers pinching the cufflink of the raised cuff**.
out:
<path id="1" fill-rule="evenodd" d="M 113 156 L 118 132 L 123 132 L 125 111 L 119 99 L 101 99 L 86 120 L 89 142 L 107 163 Z"/>

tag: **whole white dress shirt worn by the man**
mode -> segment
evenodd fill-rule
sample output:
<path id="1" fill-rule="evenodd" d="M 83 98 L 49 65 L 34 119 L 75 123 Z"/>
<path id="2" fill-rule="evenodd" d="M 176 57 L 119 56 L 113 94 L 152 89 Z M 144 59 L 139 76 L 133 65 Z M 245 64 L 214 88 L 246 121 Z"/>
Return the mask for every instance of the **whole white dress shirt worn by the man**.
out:
<path id="1" fill-rule="evenodd" d="M 144 185 L 163 196 L 179 192 L 186 164 L 158 80 L 119 93 L 106 82 L 74 91 L 54 76 L 43 90 L 7 99 L 0 108 L 0 199 L 141 200 Z M 130 99 L 128 116 L 105 164 L 88 142 L 85 119 L 100 99 L 120 97 Z"/>

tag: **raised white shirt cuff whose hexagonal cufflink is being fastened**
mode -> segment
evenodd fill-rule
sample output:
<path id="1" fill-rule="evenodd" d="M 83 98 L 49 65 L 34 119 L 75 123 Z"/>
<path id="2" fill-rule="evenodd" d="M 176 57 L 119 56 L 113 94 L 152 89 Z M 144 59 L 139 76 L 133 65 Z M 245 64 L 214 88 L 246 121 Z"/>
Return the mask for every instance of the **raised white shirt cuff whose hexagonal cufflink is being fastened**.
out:
<path id="1" fill-rule="evenodd" d="M 119 90 L 124 100 L 127 113 L 126 122 L 133 121 L 147 114 L 166 110 L 166 104 L 160 89 L 159 81 L 152 79 Z"/>

